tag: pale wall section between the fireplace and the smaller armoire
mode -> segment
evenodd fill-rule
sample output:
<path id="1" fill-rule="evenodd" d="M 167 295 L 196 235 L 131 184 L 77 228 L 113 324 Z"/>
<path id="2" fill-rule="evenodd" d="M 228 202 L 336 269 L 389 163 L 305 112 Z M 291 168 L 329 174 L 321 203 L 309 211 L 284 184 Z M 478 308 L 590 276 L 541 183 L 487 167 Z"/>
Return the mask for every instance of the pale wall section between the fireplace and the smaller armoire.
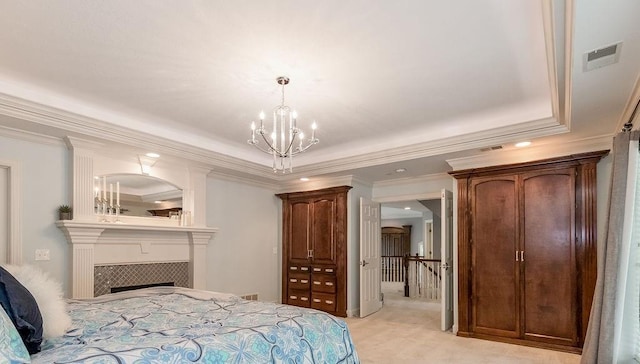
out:
<path id="1" fill-rule="evenodd" d="M 281 202 L 269 189 L 207 179 L 207 289 L 280 302 Z M 276 249 L 276 253 L 273 253 Z"/>

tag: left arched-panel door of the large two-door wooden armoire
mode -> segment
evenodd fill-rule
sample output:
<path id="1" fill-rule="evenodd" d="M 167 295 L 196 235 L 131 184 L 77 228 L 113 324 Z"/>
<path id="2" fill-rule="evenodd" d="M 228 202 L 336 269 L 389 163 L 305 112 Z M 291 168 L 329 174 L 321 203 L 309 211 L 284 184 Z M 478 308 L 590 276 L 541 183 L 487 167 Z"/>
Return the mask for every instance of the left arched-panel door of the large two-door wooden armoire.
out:
<path id="1" fill-rule="evenodd" d="M 520 336 L 516 176 L 471 181 L 471 331 Z"/>

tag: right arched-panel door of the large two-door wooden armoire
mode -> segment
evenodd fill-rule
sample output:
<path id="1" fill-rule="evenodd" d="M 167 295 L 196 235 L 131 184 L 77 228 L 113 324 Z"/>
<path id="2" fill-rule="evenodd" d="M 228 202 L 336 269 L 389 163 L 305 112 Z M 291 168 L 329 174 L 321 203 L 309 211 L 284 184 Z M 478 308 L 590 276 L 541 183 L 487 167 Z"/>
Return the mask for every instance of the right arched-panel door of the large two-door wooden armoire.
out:
<path id="1" fill-rule="evenodd" d="M 527 340 L 578 344 L 574 168 L 522 176 L 522 268 Z"/>

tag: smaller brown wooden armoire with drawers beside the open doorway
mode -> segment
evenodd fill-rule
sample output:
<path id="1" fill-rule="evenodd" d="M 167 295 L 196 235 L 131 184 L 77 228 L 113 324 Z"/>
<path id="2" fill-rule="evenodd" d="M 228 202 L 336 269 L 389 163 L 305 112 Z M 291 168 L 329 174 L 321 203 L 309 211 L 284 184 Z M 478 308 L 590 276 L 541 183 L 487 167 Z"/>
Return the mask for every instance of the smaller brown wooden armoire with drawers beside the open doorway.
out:
<path id="1" fill-rule="evenodd" d="M 350 186 L 282 193 L 282 303 L 347 316 Z"/>

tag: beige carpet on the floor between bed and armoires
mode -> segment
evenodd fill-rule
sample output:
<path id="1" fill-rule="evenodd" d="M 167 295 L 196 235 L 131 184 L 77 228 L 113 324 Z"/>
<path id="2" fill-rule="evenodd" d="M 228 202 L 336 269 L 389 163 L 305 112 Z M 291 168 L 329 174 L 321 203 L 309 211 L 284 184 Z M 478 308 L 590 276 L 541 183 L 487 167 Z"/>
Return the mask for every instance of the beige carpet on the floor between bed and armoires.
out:
<path id="1" fill-rule="evenodd" d="M 461 338 L 440 331 L 440 304 L 385 289 L 383 308 L 346 319 L 362 363 L 562 363 L 580 356 L 527 346 Z"/>

